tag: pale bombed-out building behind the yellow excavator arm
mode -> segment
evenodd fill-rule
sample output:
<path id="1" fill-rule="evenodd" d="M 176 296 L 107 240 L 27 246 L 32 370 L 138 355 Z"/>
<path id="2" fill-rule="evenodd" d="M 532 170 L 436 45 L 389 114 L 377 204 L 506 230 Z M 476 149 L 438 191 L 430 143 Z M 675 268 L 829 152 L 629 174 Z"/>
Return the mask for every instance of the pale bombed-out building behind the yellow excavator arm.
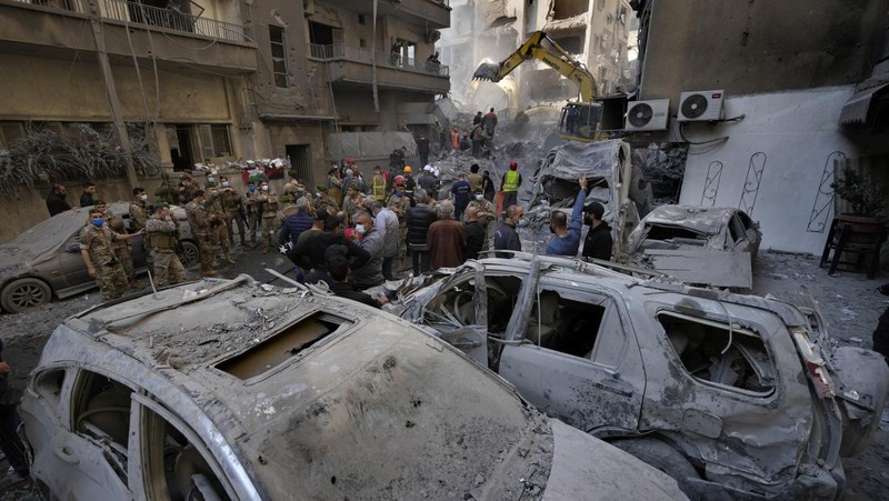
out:
<path id="1" fill-rule="evenodd" d="M 512 116 L 538 104 L 577 99 L 576 83 L 542 62 L 529 62 L 497 83 L 472 82 L 482 61 L 500 61 L 528 36 L 545 31 L 596 78 L 598 96 L 628 90 L 632 11 L 626 0 L 451 1 L 453 28 L 438 46 L 451 68 L 455 99 L 469 108 L 493 107 Z M 501 113 L 502 114 L 502 113 Z"/>

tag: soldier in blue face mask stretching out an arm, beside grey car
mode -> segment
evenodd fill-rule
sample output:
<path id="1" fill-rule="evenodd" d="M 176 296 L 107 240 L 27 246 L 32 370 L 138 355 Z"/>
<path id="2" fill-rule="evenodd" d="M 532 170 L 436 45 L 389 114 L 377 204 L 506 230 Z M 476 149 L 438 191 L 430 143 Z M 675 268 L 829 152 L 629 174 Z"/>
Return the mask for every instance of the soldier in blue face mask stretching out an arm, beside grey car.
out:
<path id="1" fill-rule="evenodd" d="M 114 257 L 111 244 L 114 240 L 129 240 L 142 232 L 131 234 L 114 233 L 104 223 L 102 213 L 90 211 L 90 220 L 80 231 L 80 255 L 87 263 L 90 277 L 96 277 L 96 284 L 102 292 L 102 300 L 108 301 L 123 295 L 127 290 L 127 275 L 123 267 Z"/>

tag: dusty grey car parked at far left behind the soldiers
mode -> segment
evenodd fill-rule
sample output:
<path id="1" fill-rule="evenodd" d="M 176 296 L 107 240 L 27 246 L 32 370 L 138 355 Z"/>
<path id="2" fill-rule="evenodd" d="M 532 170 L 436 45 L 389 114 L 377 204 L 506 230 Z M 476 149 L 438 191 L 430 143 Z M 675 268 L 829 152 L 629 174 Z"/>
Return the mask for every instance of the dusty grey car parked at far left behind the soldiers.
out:
<path id="1" fill-rule="evenodd" d="M 129 228 L 129 202 L 111 203 L 108 210 L 121 216 Z M 179 255 L 188 268 L 200 260 L 200 251 L 184 209 L 174 208 L 173 216 L 179 220 Z M 78 241 L 88 217 L 89 208 L 64 211 L 34 224 L 16 240 L 0 244 L 0 307 L 3 311 L 24 311 L 46 304 L 53 297 L 68 298 L 96 287 Z M 133 238 L 130 244 L 137 273 L 144 272 L 142 238 Z"/>

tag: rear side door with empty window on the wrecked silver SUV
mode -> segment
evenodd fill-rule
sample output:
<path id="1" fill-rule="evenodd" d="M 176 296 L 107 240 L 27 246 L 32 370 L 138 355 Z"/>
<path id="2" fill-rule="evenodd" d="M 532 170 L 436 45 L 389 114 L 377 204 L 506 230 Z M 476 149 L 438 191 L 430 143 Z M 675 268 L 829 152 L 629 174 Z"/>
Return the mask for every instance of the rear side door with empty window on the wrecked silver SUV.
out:
<path id="1" fill-rule="evenodd" d="M 500 375 L 576 428 L 601 435 L 636 430 L 645 368 L 619 297 L 546 271 L 526 292 L 513 313 L 525 320 L 510 323 Z"/>

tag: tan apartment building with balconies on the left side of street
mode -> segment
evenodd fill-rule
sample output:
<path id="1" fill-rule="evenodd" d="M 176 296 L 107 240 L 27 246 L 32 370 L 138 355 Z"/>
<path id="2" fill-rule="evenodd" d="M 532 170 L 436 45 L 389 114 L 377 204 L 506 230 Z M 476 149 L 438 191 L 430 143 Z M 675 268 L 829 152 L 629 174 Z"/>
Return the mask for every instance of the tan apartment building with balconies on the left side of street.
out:
<path id="1" fill-rule="evenodd" d="M 432 0 L 0 0 L 0 150 L 33 124 L 136 127 L 173 178 L 287 158 L 320 182 L 341 154 L 373 157 L 352 146 L 433 130 L 448 68 L 426 59 L 449 24 L 447 2 Z M 160 172 L 137 182 L 152 190 Z M 86 179 L 46 181 L 0 202 L 14 221 L 0 241 L 46 218 L 50 182 L 76 204 Z M 129 199 L 132 180 L 93 181 Z"/>

